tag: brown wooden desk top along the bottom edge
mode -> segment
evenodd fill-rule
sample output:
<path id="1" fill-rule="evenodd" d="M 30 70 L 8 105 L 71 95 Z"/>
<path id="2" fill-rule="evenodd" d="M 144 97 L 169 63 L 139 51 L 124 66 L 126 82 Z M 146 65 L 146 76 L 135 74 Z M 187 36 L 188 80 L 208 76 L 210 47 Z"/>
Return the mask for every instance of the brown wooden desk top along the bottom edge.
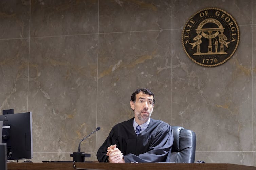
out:
<path id="1" fill-rule="evenodd" d="M 186 163 L 76 163 L 76 168 L 105 170 L 256 170 L 236 164 Z M 7 163 L 8 170 L 74 170 L 73 163 Z"/>

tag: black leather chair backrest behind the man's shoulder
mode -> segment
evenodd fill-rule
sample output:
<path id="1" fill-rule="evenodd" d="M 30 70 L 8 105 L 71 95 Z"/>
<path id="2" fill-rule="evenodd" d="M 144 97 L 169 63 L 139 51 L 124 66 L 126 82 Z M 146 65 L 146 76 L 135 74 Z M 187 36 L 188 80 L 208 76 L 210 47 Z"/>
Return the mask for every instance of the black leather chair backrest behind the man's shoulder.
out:
<path id="1" fill-rule="evenodd" d="M 173 145 L 166 162 L 194 163 L 196 153 L 196 133 L 180 126 L 172 126 Z"/>

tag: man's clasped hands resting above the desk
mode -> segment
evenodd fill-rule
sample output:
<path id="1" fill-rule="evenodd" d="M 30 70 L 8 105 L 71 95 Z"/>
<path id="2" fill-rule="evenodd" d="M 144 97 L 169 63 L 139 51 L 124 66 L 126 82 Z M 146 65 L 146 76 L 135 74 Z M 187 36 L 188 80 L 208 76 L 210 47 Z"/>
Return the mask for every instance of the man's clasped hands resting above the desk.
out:
<path id="1" fill-rule="evenodd" d="M 125 163 L 123 153 L 116 147 L 116 145 L 110 145 L 107 149 L 108 161 L 110 163 Z"/>

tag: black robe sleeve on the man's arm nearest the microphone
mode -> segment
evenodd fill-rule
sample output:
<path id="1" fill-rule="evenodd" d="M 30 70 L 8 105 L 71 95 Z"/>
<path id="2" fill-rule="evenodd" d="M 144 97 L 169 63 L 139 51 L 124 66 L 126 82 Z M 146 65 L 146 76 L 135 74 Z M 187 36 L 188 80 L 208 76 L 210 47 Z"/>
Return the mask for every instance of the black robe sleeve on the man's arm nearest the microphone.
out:
<path id="1" fill-rule="evenodd" d="M 119 147 L 119 142 L 115 139 L 114 137 L 114 131 L 113 129 L 110 131 L 107 139 L 104 141 L 104 143 L 102 144 L 102 146 L 100 146 L 98 152 L 97 152 L 97 158 L 99 162 L 107 162 L 108 156 L 107 154 L 107 148 L 110 145 L 117 144 L 117 146 Z"/>

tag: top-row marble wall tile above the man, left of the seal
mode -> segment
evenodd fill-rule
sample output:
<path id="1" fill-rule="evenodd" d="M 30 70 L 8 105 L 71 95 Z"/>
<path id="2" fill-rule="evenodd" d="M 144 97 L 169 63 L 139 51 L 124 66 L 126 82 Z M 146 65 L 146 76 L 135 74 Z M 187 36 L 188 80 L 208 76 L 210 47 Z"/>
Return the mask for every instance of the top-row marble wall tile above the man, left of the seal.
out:
<path id="1" fill-rule="evenodd" d="M 100 0 L 99 32 L 171 29 L 171 1 Z"/>

